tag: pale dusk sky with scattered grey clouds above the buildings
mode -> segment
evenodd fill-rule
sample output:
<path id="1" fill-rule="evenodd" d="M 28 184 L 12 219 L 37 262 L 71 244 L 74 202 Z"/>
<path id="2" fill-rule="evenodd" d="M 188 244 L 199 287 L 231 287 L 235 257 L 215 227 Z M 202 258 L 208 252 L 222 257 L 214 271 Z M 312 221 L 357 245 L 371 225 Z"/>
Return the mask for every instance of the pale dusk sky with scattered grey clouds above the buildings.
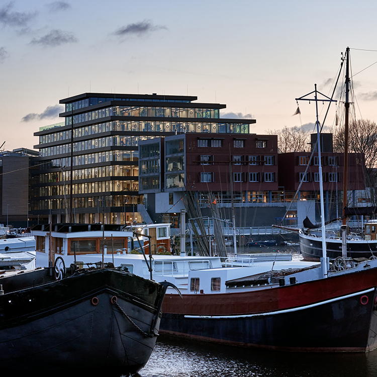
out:
<path id="1" fill-rule="evenodd" d="M 366 0 L 0 0 L 0 145 L 33 148 L 84 92 L 197 96 L 257 134 L 312 127 L 315 105 L 293 116 L 295 98 L 329 95 L 347 46 L 356 115 L 377 121 L 376 14 Z"/>

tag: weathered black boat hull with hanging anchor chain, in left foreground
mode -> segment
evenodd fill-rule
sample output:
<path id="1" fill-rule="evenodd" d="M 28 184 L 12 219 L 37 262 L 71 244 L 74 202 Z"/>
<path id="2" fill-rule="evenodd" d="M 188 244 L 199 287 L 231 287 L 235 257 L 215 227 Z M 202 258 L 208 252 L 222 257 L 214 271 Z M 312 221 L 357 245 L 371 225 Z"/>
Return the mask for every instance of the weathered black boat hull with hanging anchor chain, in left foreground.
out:
<path id="1" fill-rule="evenodd" d="M 140 370 L 156 342 L 162 289 L 119 272 L 91 271 L 1 296 L 0 366 Z"/>

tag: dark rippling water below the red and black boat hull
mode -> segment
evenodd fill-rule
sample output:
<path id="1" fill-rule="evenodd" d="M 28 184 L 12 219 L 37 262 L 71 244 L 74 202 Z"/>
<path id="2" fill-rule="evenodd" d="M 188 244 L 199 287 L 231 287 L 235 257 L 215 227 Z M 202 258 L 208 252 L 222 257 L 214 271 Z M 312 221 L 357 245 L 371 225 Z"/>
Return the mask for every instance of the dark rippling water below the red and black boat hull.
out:
<path id="1" fill-rule="evenodd" d="M 141 377 L 375 377 L 377 351 L 290 353 L 158 338 Z"/>

